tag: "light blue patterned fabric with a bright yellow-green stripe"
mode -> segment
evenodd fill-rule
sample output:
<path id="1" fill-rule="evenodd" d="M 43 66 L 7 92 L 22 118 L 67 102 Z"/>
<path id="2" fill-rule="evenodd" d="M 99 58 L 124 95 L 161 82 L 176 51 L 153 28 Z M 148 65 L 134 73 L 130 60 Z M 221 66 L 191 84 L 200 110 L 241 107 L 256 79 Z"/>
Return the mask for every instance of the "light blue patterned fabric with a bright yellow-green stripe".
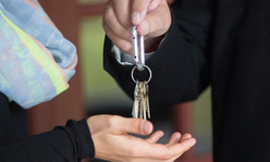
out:
<path id="1" fill-rule="evenodd" d="M 27 109 L 69 88 L 76 49 L 36 0 L 0 0 L 0 91 Z"/>

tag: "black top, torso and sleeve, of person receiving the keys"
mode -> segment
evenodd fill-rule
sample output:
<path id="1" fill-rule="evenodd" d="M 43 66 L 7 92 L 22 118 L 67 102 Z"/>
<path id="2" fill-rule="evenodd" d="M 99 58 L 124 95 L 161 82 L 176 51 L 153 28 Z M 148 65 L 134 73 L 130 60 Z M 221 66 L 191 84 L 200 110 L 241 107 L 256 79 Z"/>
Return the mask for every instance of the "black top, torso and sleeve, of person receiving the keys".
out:
<path id="1" fill-rule="evenodd" d="M 27 136 L 26 110 L 0 92 L 0 162 L 75 162 L 95 155 L 86 120 Z"/>

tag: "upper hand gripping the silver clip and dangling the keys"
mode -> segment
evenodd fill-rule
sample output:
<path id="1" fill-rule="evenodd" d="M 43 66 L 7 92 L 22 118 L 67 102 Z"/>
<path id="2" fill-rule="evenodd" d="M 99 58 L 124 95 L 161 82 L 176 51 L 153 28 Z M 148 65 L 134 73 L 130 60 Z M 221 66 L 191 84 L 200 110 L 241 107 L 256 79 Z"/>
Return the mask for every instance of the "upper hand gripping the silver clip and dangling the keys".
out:
<path id="1" fill-rule="evenodd" d="M 122 51 L 132 54 L 132 25 L 145 36 L 149 50 L 162 39 L 171 25 L 167 0 L 109 0 L 103 10 L 103 29 Z"/>

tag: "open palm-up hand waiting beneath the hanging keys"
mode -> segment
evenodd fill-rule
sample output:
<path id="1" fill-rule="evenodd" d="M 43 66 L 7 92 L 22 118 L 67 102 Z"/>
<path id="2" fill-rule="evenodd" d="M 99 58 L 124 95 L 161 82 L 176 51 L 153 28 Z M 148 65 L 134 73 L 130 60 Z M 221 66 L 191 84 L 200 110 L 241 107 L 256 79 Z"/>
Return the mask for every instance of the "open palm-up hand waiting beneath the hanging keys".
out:
<path id="1" fill-rule="evenodd" d="M 147 139 L 128 135 L 149 135 L 152 124 L 142 119 L 118 115 L 95 115 L 87 120 L 94 140 L 95 158 L 118 162 L 173 162 L 196 142 L 189 134 L 174 133 L 165 145 L 156 144 L 163 133 Z"/>

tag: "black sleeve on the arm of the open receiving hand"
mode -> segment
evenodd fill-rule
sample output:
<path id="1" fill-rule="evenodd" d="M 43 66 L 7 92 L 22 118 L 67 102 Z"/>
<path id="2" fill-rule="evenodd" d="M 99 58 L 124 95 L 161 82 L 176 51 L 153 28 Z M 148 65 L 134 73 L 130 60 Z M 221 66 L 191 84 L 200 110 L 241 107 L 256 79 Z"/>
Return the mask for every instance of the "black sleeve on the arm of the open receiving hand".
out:
<path id="1" fill-rule="evenodd" d="M 0 148 L 1 162 L 75 162 L 94 158 L 95 149 L 86 120 Z"/>

